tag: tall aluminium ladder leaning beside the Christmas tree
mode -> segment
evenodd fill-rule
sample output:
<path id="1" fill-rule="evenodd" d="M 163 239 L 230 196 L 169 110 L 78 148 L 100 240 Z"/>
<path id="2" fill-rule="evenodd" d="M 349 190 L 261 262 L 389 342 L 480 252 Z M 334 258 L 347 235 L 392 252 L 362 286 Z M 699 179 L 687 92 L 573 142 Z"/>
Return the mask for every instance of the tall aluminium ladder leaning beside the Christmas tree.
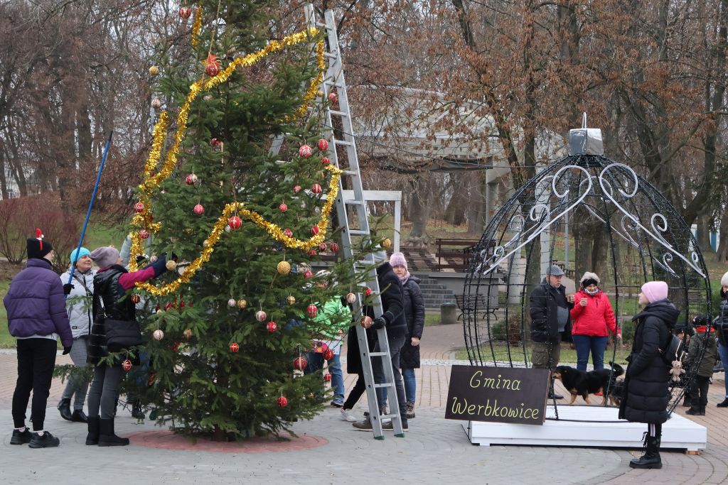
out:
<path id="1" fill-rule="evenodd" d="M 319 23 L 315 19 L 315 12 L 312 4 L 307 4 L 306 21 L 309 26 L 325 29 L 327 47 L 325 58 L 328 61 L 328 68 L 324 76 L 320 90 L 323 91 L 324 99 L 328 99 L 328 95 L 335 92 L 339 97 L 339 109 L 331 109 L 331 105 L 327 105 L 323 114 L 325 123 L 325 138 L 328 140 L 328 158 L 331 164 L 343 170 L 341 179 L 339 180 L 339 193 L 336 196 L 336 215 L 338 217 L 339 227 L 341 230 L 341 251 L 344 259 L 352 262 L 352 273 L 360 274 L 365 271 L 366 285 L 371 289 L 374 296 L 373 311 L 374 318 L 384 313 L 381 306 L 381 298 L 379 297 L 379 282 L 376 277 L 376 261 L 373 254 L 367 254 L 365 257 L 358 257 L 354 253 L 352 245 L 352 236 L 364 239 L 371 239 L 369 228 L 369 220 L 367 218 L 366 201 L 364 200 L 364 190 L 362 187 L 361 174 L 359 169 L 359 159 L 357 158 L 356 141 L 352 128 L 352 116 L 349 111 L 349 99 L 347 97 L 347 84 L 344 81 L 344 66 L 341 63 L 341 52 L 339 50 L 339 37 L 336 34 L 336 22 L 334 21 L 333 11 L 326 10 L 324 13 L 324 23 Z M 333 104 L 333 103 L 331 103 Z M 341 122 L 341 129 L 335 129 L 333 117 Z M 339 165 L 340 160 L 336 148 L 341 147 L 346 153 L 346 167 Z M 344 199 L 344 180 L 349 180 L 353 199 Z M 356 221 L 356 228 L 352 228 L 349 221 L 349 212 L 352 212 L 352 219 Z M 365 290 L 365 288 L 360 288 Z M 357 301 L 353 304 L 354 315 L 363 315 L 362 291 L 357 291 Z M 377 340 L 379 342 L 379 351 L 370 352 L 369 342 L 366 330 L 357 322 L 357 339 L 359 341 L 360 356 L 362 360 L 362 369 L 364 381 L 366 383 L 366 396 L 369 403 L 369 419 L 371 420 L 374 438 L 384 439 L 382 431 L 382 420 L 392 420 L 392 428 L 395 436 L 404 437 L 402 428 L 402 418 L 399 411 L 399 402 L 397 401 L 397 388 L 395 387 L 395 375 L 392 370 L 392 361 L 389 353 L 389 340 L 387 340 L 387 329 L 382 328 L 376 331 Z M 374 382 L 373 359 L 381 359 L 381 366 L 384 374 L 384 382 Z M 387 390 L 387 400 L 389 401 L 390 414 L 379 414 L 379 406 L 377 405 L 376 389 Z"/>

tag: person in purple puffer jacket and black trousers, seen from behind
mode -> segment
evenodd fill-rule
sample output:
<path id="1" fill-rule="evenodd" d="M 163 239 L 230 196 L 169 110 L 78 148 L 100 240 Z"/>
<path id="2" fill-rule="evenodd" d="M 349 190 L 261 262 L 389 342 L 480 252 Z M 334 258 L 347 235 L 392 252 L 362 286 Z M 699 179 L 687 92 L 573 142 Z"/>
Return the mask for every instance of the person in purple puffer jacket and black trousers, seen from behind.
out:
<path id="1" fill-rule="evenodd" d="M 43 422 L 55 366 L 56 340 L 60 336 L 63 355 L 71 351 L 74 342 L 63 295 L 66 289 L 51 265 L 54 256 L 53 246 L 43 241 L 41 230 L 36 229 L 36 238 L 28 239 L 28 266 L 12 278 L 3 298 L 7 326 L 17 339 L 17 383 L 12 395 L 15 429 L 10 444 L 30 443 L 31 448 L 50 448 L 60 443 L 43 429 Z M 33 433 L 25 428 L 31 390 Z"/>

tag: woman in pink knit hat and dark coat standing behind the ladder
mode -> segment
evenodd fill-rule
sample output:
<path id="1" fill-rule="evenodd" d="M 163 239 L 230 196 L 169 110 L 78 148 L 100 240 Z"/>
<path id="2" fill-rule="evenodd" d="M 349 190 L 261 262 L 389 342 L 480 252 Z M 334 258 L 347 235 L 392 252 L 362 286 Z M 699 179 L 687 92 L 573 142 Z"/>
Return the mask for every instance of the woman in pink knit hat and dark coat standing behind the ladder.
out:
<path id="1" fill-rule="evenodd" d="M 405 384 L 407 398 L 407 419 L 414 417 L 414 401 L 417 384 L 414 369 L 419 369 L 419 340 L 424 329 L 424 300 L 419 289 L 419 278 L 412 276 L 407 269 L 407 260 L 401 252 L 395 252 L 389 257 L 389 264 L 395 274 L 400 278 L 403 289 L 405 318 L 407 320 L 407 336 L 405 345 L 400 353 L 400 369 Z"/>

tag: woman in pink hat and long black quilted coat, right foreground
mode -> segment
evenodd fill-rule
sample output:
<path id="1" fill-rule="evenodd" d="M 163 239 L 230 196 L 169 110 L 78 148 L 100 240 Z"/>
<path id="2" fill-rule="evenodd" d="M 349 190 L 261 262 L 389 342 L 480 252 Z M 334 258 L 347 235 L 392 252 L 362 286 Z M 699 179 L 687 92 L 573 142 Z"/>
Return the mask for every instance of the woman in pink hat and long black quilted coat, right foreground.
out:
<path id="1" fill-rule="evenodd" d="M 631 468 L 662 468 L 660 436 L 668 420 L 670 369 L 662 361 L 661 349 L 667 348 L 680 311 L 668 300 L 668 284 L 650 281 L 642 285 L 640 305 L 646 305 L 632 320 L 635 339 L 628 357 L 625 396 L 620 418 L 646 422 L 645 454 L 630 461 Z"/>

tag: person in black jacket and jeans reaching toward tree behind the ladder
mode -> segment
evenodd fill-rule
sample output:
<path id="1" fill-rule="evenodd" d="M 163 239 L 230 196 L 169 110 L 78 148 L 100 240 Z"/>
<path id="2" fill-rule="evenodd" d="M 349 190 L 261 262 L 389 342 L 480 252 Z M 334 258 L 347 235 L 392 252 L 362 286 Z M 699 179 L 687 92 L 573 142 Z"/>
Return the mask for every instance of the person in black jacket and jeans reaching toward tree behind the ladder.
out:
<path id="1" fill-rule="evenodd" d="M 387 327 L 387 341 L 389 342 L 389 356 L 391 357 L 392 372 L 395 375 L 395 387 L 397 388 L 397 401 L 400 408 L 400 417 L 402 418 L 402 429 L 408 430 L 407 418 L 405 414 L 405 387 L 400 374 L 400 351 L 405 343 L 405 335 L 407 333 L 407 321 L 405 320 L 404 302 L 402 284 L 400 278 L 397 278 L 392 265 L 387 261 L 387 253 L 384 250 L 374 254 L 375 261 L 384 262 L 376 268 L 376 278 L 379 281 L 379 291 L 381 292 L 381 306 L 384 313 L 380 317 L 371 318 L 371 308 L 367 308 L 368 315 L 361 319 L 361 326 L 365 329 L 381 329 Z M 374 352 L 379 352 L 379 342 L 374 347 Z M 374 382 L 384 382 L 384 368 L 381 365 L 382 359 L 375 357 L 372 359 L 372 369 L 374 373 Z M 381 404 L 384 402 L 384 394 L 381 388 L 376 390 L 377 401 Z M 381 410 L 383 406 L 379 406 Z M 352 423 L 352 425 L 360 430 L 371 430 L 371 420 L 367 417 L 364 421 Z M 392 422 L 385 422 L 382 425 L 384 429 L 392 429 Z"/>

